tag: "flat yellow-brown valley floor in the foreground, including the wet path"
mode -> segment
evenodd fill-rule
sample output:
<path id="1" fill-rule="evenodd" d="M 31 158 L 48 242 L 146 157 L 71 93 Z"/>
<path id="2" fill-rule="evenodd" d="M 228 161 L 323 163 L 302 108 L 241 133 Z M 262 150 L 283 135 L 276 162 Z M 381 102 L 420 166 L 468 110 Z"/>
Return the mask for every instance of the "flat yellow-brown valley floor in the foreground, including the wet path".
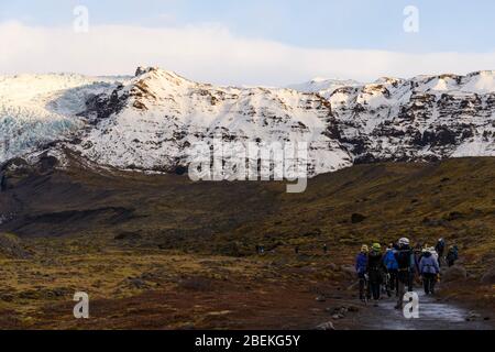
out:
<path id="1" fill-rule="evenodd" d="M 0 329 L 495 329 L 490 289 L 477 306 L 452 287 L 421 297 L 418 321 L 394 298 L 365 306 L 352 258 L 338 253 L 232 258 L 28 242 L 43 256 L 0 263 Z M 76 292 L 89 295 L 90 319 L 74 318 Z"/>

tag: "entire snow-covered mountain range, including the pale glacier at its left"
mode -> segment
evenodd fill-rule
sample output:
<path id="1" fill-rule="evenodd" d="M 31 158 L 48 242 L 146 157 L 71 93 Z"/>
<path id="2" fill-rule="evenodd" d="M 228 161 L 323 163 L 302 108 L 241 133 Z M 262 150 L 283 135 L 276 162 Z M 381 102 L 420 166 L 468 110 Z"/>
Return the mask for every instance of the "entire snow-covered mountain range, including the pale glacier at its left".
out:
<path id="1" fill-rule="evenodd" d="M 495 156 L 495 72 L 215 87 L 134 77 L 0 77 L 0 162 L 61 146 L 100 165 L 173 170 L 195 142 L 308 142 L 310 172 L 359 162 Z"/>

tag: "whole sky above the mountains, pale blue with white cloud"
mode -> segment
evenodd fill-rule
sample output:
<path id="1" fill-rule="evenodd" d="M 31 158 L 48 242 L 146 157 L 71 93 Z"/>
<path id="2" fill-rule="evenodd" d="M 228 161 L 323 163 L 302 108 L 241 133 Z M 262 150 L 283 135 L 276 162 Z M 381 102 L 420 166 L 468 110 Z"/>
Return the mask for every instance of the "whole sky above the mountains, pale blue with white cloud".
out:
<path id="1" fill-rule="evenodd" d="M 77 33 L 77 6 L 89 32 Z M 407 6 L 419 32 L 408 33 Z M 133 74 L 161 66 L 216 84 L 495 69 L 495 1 L 1 1 L 0 74 Z M 76 22 L 80 23 L 80 22 Z M 409 22 L 408 22 L 409 23 Z"/>

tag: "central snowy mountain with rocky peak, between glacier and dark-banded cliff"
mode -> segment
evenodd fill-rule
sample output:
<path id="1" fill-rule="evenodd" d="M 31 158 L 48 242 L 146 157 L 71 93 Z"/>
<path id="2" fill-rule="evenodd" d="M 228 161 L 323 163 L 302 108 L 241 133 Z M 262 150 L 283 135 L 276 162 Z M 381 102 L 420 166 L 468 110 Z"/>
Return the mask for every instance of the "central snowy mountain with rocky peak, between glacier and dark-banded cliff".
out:
<path id="1" fill-rule="evenodd" d="M 197 142 L 307 142 L 310 170 L 351 165 L 352 156 L 331 135 L 330 103 L 289 89 L 213 87 L 161 69 L 96 97 L 87 117 L 95 128 L 78 150 L 120 168 L 169 170 L 188 163 Z"/>

